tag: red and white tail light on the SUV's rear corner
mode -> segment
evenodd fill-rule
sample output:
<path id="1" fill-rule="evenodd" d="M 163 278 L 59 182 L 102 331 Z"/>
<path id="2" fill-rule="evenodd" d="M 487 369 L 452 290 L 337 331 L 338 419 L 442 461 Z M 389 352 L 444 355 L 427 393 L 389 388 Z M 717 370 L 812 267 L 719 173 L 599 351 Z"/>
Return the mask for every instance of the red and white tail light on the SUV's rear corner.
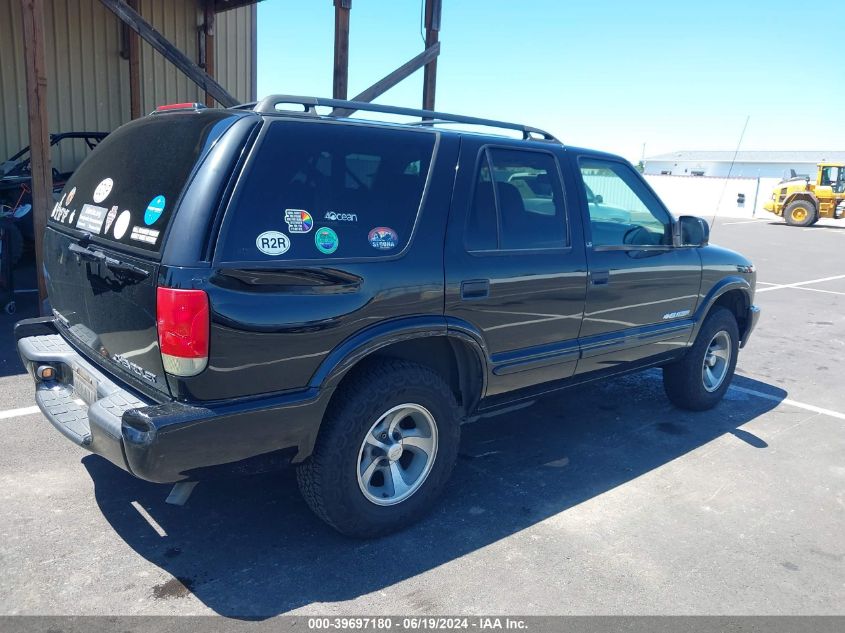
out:
<path id="1" fill-rule="evenodd" d="M 196 376 L 208 364 L 208 295 L 202 290 L 156 290 L 158 344 L 164 370 Z"/>

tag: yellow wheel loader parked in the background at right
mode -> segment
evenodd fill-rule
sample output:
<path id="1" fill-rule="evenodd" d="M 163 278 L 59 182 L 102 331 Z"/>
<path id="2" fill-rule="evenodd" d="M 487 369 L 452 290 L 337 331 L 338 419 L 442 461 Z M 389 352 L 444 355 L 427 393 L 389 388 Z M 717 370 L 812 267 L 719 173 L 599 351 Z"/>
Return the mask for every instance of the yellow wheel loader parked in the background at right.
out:
<path id="1" fill-rule="evenodd" d="M 811 226 L 821 218 L 845 216 L 845 163 L 819 163 L 816 181 L 796 176 L 778 183 L 763 208 L 791 226 Z"/>

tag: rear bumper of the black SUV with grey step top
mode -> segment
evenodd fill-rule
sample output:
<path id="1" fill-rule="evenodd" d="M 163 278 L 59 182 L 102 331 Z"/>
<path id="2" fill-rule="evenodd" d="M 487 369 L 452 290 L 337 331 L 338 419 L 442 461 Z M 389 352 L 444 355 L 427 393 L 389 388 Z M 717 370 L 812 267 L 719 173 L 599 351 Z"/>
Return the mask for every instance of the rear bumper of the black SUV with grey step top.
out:
<path id="1" fill-rule="evenodd" d="M 208 406 L 152 402 L 89 362 L 51 319 L 15 326 L 18 353 L 35 380 L 35 402 L 65 437 L 147 481 L 170 483 L 247 473 L 311 454 L 328 397 L 317 390 Z M 36 375 L 56 369 L 53 380 Z M 75 371 L 96 383 L 82 402 Z M 80 390 L 81 391 L 81 390 Z"/>

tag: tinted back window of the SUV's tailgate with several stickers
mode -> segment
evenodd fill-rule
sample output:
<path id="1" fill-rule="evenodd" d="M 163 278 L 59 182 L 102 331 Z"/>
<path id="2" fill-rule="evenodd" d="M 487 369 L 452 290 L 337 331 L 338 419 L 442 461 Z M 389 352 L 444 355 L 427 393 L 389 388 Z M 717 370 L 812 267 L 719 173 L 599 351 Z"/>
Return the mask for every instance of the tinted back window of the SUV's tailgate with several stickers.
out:
<path id="1" fill-rule="evenodd" d="M 70 178 L 48 224 L 158 251 L 194 165 L 233 121 L 225 112 L 171 113 L 119 128 Z"/>

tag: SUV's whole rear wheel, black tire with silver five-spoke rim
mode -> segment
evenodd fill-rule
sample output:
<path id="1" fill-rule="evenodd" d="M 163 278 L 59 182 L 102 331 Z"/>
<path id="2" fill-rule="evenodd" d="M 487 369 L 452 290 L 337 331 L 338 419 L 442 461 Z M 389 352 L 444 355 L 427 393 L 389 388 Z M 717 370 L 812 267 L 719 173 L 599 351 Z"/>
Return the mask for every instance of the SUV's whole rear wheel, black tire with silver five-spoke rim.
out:
<path id="1" fill-rule="evenodd" d="M 348 536 L 405 527 L 434 504 L 460 439 L 449 386 L 402 360 L 370 365 L 341 387 L 314 453 L 297 469 L 311 509 Z"/>

